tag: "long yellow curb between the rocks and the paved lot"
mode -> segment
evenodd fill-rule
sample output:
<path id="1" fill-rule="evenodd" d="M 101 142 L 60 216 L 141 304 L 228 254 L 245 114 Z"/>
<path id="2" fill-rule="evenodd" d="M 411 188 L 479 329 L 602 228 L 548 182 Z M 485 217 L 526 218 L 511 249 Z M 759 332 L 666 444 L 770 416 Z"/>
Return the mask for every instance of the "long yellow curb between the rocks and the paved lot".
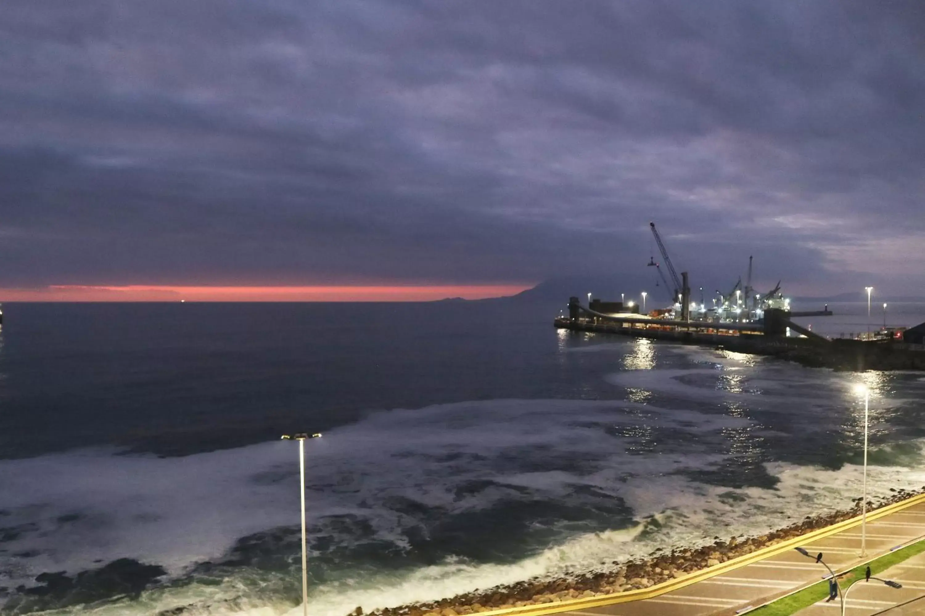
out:
<path id="1" fill-rule="evenodd" d="M 919 494 L 918 496 L 913 496 L 906 501 L 894 502 L 892 504 L 881 507 L 876 511 L 868 512 L 867 519 L 870 522 L 882 518 L 886 515 L 890 515 L 891 513 L 896 513 L 907 509 L 908 507 L 918 505 L 922 502 L 925 502 L 925 494 Z M 831 537 L 837 533 L 842 532 L 843 530 L 860 525 L 861 518 L 862 516 L 857 515 L 856 517 L 849 518 L 837 524 L 811 531 L 806 535 L 800 535 L 799 537 L 786 539 L 780 543 L 766 546 L 749 554 L 737 556 L 729 561 L 721 562 L 720 564 L 713 565 L 712 567 L 707 567 L 706 569 L 701 569 L 692 574 L 687 574 L 684 577 L 662 582 L 661 584 L 649 586 L 648 588 L 628 590 L 625 592 L 613 593 L 612 595 L 603 595 L 601 597 L 574 598 L 567 601 L 560 601 L 558 603 L 539 603 L 534 605 L 524 605 L 520 608 L 489 610 L 476 613 L 484 614 L 485 616 L 501 616 L 507 614 L 512 616 L 544 616 L 545 614 L 556 614 L 562 611 L 586 610 L 588 608 L 599 608 L 606 605 L 617 605 L 619 603 L 628 603 L 630 601 L 642 601 L 648 598 L 656 598 L 660 595 L 664 595 L 665 593 L 672 592 L 672 590 L 680 590 L 685 586 L 697 584 L 697 582 L 708 580 L 711 577 L 727 574 L 754 562 L 763 561 L 764 559 L 771 558 L 771 556 L 776 556 L 777 554 L 781 554 L 785 551 L 793 550 L 797 546 L 800 546 L 804 543 L 810 543 L 825 537 Z M 879 556 L 876 558 L 879 558 Z M 755 609 L 758 609 L 758 607 L 759 606 L 757 606 Z M 475 616 L 475 614 L 473 614 L 473 616 Z"/>

